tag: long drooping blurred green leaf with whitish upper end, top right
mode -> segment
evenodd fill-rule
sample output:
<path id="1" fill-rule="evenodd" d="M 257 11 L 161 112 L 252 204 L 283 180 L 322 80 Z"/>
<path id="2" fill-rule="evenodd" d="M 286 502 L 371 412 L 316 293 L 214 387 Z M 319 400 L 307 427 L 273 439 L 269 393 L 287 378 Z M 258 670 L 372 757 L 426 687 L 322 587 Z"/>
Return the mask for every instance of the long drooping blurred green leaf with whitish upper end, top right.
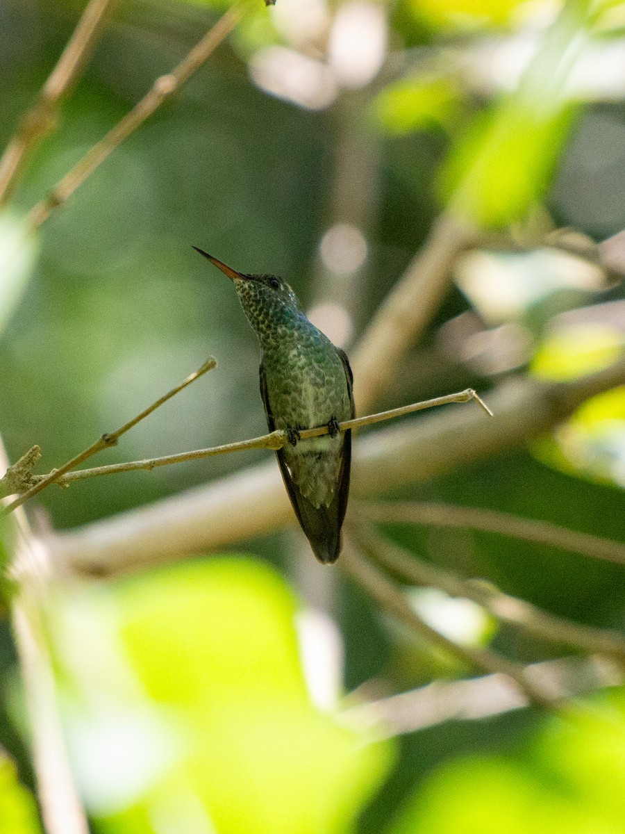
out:
<path id="1" fill-rule="evenodd" d="M 523 219 L 542 197 L 577 113 L 567 79 L 595 18 L 588 0 L 567 3 L 517 90 L 458 141 L 441 177 L 454 211 L 501 227 Z"/>

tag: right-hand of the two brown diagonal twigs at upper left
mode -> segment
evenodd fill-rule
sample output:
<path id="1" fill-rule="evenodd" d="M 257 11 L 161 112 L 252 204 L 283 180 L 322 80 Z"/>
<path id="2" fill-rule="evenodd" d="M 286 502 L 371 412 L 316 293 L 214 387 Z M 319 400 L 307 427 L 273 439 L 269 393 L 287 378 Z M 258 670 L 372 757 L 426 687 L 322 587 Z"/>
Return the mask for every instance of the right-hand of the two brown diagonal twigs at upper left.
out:
<path id="1" fill-rule="evenodd" d="M 87 177 L 101 165 L 104 160 L 117 148 L 124 139 L 141 127 L 143 122 L 151 116 L 161 104 L 173 96 L 184 83 L 195 73 L 208 57 L 218 48 L 223 39 L 233 31 L 233 28 L 243 18 L 251 0 L 236 3 L 219 18 L 202 40 L 168 75 L 163 75 L 153 83 L 153 87 L 135 104 L 117 124 L 109 130 L 98 143 L 93 145 L 76 165 L 52 188 L 46 199 L 32 208 L 28 215 L 28 223 L 32 229 L 40 226 L 49 217 L 52 210 L 65 203 L 76 189 L 82 185 Z"/>

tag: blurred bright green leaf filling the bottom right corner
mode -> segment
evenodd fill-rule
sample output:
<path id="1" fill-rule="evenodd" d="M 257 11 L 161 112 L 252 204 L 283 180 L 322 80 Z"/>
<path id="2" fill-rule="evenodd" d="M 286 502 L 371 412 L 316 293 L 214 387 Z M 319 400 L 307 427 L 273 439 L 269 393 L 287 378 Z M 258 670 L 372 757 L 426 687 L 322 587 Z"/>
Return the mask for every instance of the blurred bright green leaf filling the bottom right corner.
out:
<path id="1" fill-rule="evenodd" d="M 619 693 L 602 711 L 553 719 L 521 755 L 443 766 L 387 834 L 623 834 L 623 706 Z"/>

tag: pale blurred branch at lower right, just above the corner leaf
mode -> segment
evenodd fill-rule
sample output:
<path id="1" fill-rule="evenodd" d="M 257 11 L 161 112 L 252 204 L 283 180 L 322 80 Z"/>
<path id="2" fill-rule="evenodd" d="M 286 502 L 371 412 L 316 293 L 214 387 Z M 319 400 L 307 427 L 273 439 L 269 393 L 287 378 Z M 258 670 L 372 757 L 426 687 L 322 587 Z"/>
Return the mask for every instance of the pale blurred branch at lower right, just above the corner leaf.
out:
<path id="1" fill-rule="evenodd" d="M 547 686 L 556 696 L 588 695 L 623 682 L 620 671 L 603 658 L 565 658 L 524 667 L 527 680 Z M 356 696 L 365 693 L 358 691 Z M 503 675 L 487 675 L 463 681 L 434 681 L 409 692 L 348 706 L 343 720 L 370 727 L 378 738 L 390 738 L 424 730 L 443 721 L 475 721 L 519 710 L 529 701 L 508 685 Z"/>

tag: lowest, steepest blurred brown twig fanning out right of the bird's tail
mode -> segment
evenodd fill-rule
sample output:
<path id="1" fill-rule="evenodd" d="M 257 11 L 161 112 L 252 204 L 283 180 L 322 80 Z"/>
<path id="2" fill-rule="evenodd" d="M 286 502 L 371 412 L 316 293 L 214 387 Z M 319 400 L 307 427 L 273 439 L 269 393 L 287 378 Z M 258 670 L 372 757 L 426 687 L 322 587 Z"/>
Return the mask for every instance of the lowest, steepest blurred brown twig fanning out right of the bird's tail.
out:
<path id="1" fill-rule="evenodd" d="M 428 643 L 438 646 L 470 668 L 507 676 L 537 706 L 547 708 L 556 706 L 553 696 L 542 686 L 529 681 L 519 664 L 498 655 L 491 649 L 460 646 L 435 631 L 413 610 L 401 588 L 393 580 L 353 550 L 346 548 L 339 564 L 343 571 L 356 580 L 358 585 L 361 585 L 383 610 L 388 611 Z"/>

